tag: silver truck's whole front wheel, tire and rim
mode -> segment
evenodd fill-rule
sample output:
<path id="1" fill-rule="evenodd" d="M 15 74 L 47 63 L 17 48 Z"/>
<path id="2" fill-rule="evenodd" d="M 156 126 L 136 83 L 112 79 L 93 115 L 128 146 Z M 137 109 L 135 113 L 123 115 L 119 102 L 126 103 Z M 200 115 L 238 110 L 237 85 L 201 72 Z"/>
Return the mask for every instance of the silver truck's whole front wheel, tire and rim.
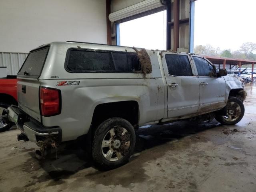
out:
<path id="1" fill-rule="evenodd" d="M 215 119 L 224 125 L 234 125 L 240 122 L 244 116 L 244 104 L 236 98 L 230 97 L 225 107 L 225 115 L 216 115 Z"/>

